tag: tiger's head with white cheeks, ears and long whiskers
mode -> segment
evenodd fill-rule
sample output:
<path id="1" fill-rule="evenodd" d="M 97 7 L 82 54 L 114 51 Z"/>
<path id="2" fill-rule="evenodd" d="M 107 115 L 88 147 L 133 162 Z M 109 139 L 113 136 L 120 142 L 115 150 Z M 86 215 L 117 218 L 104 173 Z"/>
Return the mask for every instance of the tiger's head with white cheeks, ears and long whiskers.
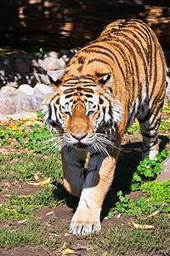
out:
<path id="1" fill-rule="evenodd" d="M 121 106 L 112 94 L 111 73 L 67 75 L 55 85 L 55 92 L 43 102 L 44 122 L 59 131 L 61 147 L 93 148 L 107 154 L 113 146 Z"/>

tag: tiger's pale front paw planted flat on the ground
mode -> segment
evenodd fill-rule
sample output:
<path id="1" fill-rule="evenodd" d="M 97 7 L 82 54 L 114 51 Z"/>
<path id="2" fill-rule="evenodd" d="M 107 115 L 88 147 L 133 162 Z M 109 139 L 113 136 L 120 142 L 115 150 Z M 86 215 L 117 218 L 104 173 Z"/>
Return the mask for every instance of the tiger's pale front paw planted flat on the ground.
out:
<path id="1" fill-rule="evenodd" d="M 95 231 L 101 230 L 101 224 L 96 216 L 83 216 L 77 212 L 71 220 L 70 233 L 76 236 L 87 236 Z"/>

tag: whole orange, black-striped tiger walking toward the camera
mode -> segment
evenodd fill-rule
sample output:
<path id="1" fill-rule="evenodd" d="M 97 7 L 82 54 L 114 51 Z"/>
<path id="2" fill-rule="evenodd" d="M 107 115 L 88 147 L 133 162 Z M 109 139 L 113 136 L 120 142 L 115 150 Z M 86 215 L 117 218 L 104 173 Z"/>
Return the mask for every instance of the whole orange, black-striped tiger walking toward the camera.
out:
<path id="1" fill-rule="evenodd" d="M 60 79 L 49 80 L 55 90 L 43 102 L 43 120 L 59 132 L 65 189 L 80 198 L 70 233 L 85 236 L 101 229 L 122 136 L 134 119 L 143 137 L 142 159 L 158 153 L 167 63 L 144 21 L 116 20 L 77 51 Z"/>

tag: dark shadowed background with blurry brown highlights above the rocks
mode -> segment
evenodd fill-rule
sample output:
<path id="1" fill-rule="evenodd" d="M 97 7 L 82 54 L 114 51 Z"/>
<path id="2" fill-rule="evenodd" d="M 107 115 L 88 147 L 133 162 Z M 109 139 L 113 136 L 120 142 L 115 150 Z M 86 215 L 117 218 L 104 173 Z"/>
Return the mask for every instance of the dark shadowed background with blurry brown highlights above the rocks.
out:
<path id="1" fill-rule="evenodd" d="M 50 45 L 56 49 L 82 46 L 99 36 L 112 20 L 137 17 L 169 44 L 169 1 L 147 0 L 2 0 L 1 44 Z M 161 6 L 158 6 L 161 4 Z"/>

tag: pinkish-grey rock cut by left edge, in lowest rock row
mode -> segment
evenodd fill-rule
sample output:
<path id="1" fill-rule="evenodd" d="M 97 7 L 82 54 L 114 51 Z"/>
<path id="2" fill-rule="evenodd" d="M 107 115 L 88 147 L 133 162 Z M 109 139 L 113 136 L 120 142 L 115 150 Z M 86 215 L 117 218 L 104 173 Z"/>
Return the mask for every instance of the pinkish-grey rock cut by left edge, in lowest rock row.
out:
<path id="1" fill-rule="evenodd" d="M 16 105 L 12 99 L 0 99 L 0 113 L 11 114 L 16 112 Z"/>

